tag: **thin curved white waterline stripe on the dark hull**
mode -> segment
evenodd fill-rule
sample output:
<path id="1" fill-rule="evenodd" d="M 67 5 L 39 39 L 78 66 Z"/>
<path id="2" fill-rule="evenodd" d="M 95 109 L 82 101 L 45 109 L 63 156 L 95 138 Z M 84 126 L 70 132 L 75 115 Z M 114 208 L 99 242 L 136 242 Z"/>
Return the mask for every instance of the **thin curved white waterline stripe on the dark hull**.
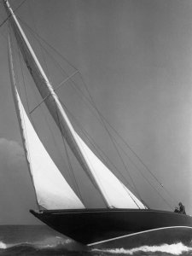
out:
<path id="1" fill-rule="evenodd" d="M 156 231 L 156 230 L 167 230 L 167 229 L 177 229 L 177 228 L 186 228 L 186 229 L 191 229 L 192 230 L 192 227 L 189 227 L 189 226 L 164 227 L 164 228 L 158 228 L 158 229 L 153 229 L 153 230 L 145 230 L 145 231 L 141 231 L 141 232 L 137 232 L 137 233 L 134 233 L 134 234 L 125 235 L 125 236 L 117 236 L 117 237 L 114 237 L 114 238 L 111 238 L 111 239 L 108 239 L 108 240 L 96 241 L 96 242 L 87 244 L 87 246 L 90 247 L 90 246 L 100 244 L 100 243 L 104 243 L 104 242 L 107 242 L 107 241 L 114 241 L 114 240 L 118 240 L 118 239 L 125 238 L 125 237 L 128 237 L 128 236 L 136 236 L 136 235 L 140 235 L 140 234 L 144 234 L 144 233 L 152 232 L 152 231 Z"/>

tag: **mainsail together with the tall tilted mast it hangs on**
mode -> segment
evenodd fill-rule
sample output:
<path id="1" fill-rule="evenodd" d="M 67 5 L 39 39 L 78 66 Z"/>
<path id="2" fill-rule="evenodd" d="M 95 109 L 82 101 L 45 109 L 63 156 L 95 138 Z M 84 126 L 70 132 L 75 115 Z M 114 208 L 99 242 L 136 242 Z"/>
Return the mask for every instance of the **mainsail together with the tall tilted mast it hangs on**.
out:
<path id="1" fill-rule="evenodd" d="M 91 182 L 102 195 L 106 207 L 146 208 L 143 202 L 137 199 L 137 197 L 113 175 L 108 167 L 96 157 L 96 154 L 94 154 L 79 137 L 78 133 L 74 131 L 73 125 L 67 117 L 67 113 L 65 113 L 61 102 L 55 95 L 55 91 L 49 83 L 49 79 L 47 79 L 43 68 L 38 62 L 7 0 L 4 0 L 4 5 L 7 9 L 9 20 L 15 32 L 15 38 L 20 47 L 24 61 L 26 62 L 26 66 L 49 109 L 49 113 L 52 115 L 53 119 L 55 119 L 55 123 L 61 130 L 62 136 L 65 137 L 67 144 L 77 160 L 79 160 L 79 164 L 84 169 L 84 172 L 90 177 Z"/>

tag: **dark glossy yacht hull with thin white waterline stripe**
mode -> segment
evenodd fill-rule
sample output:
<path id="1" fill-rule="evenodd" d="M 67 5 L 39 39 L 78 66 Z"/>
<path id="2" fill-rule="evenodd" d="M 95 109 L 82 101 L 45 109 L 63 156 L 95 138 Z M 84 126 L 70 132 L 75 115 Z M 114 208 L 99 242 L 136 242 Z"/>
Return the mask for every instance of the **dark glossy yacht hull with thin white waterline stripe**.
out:
<path id="1" fill-rule="evenodd" d="M 97 248 L 192 240 L 192 218 L 155 210 L 53 210 L 32 214 L 61 234 Z"/>

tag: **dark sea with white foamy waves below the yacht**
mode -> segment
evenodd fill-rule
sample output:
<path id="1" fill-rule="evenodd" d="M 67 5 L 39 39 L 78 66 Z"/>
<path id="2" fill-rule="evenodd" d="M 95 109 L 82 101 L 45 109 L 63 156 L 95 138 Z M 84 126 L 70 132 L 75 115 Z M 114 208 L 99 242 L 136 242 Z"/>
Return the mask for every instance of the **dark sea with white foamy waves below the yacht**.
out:
<path id="1" fill-rule="evenodd" d="M 44 256 L 104 256 L 104 255 L 192 255 L 191 247 L 176 244 L 135 247 L 125 250 L 123 247 L 113 250 L 92 249 L 85 251 L 75 241 L 62 236 L 45 225 L 2 225 L 0 226 L 0 255 L 44 255 Z"/>

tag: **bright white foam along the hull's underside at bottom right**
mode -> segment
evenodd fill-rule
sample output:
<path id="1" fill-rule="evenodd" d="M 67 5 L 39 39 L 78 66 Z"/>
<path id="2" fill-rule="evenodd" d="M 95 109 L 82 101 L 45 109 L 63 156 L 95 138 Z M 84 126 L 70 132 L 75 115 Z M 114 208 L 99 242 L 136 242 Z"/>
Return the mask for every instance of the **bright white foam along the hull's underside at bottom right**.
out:
<path id="1" fill-rule="evenodd" d="M 100 251 L 103 253 L 117 253 L 117 254 L 127 254 L 133 255 L 133 253 L 143 252 L 143 253 L 172 253 L 172 255 L 182 255 L 182 253 L 188 253 L 192 251 L 192 247 L 187 247 L 183 245 L 182 242 L 174 243 L 174 244 L 162 244 L 160 246 L 143 246 L 132 248 L 130 250 L 126 250 L 124 248 L 116 248 L 116 249 L 93 249 L 92 251 Z"/>

